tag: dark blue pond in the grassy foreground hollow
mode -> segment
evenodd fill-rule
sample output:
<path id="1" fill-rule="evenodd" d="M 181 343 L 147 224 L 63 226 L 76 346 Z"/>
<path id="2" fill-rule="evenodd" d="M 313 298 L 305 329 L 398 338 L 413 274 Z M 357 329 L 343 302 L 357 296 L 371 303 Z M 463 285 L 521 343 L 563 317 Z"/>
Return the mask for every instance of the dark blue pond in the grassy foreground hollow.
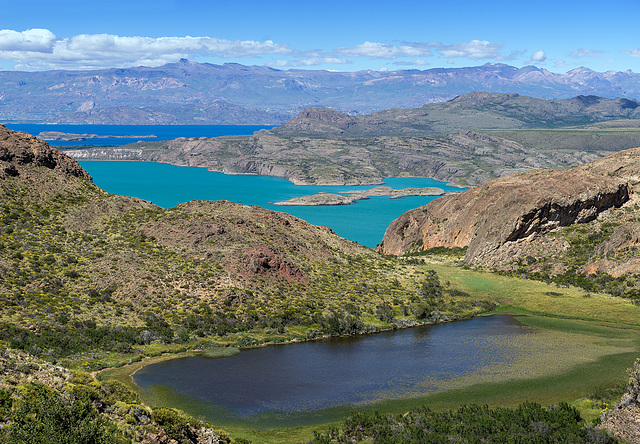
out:
<path id="1" fill-rule="evenodd" d="M 246 418 L 310 412 L 347 404 L 420 396 L 449 381 L 508 365 L 514 335 L 531 333 L 509 316 L 189 357 L 142 368 L 135 382 L 148 393 L 208 405 Z M 205 415 L 209 416 L 209 415 Z"/>

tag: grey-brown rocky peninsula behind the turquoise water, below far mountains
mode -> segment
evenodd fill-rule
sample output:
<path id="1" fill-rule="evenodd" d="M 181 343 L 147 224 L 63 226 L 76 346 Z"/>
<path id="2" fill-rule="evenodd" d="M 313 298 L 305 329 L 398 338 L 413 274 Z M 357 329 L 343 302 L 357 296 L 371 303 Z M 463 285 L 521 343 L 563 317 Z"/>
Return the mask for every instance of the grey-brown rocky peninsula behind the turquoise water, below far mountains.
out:
<path id="1" fill-rule="evenodd" d="M 140 160 L 299 185 L 379 185 L 385 177 L 485 184 L 539 168 L 567 169 L 640 146 L 640 102 L 544 100 L 474 92 L 420 108 L 348 115 L 308 108 L 249 136 L 69 149 L 77 160 Z"/>

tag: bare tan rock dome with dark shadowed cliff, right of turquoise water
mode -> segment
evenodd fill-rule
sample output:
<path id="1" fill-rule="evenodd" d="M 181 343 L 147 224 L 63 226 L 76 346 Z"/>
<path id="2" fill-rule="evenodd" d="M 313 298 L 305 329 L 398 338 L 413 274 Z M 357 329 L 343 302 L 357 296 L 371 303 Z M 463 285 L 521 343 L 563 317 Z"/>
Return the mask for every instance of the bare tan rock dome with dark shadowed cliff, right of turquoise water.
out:
<path id="1" fill-rule="evenodd" d="M 538 170 L 496 179 L 458 195 L 436 199 L 391 223 L 381 250 L 468 247 L 469 263 L 508 261 L 514 248 L 557 227 L 589 222 L 629 199 L 623 178 L 591 173 Z"/>

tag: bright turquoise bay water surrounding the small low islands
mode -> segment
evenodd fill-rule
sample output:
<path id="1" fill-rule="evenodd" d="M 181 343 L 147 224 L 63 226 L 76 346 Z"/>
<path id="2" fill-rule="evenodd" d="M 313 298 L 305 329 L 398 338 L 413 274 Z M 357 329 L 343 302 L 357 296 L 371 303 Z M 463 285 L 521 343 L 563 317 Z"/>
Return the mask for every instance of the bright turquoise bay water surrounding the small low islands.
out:
<path id="1" fill-rule="evenodd" d="M 81 161 L 102 189 L 148 200 L 163 208 L 171 208 L 190 200 L 229 200 L 245 205 L 257 205 L 302 218 L 314 225 L 333 229 L 338 235 L 367 247 L 382 241 L 389 224 L 405 211 L 426 205 L 434 196 L 371 197 L 351 205 L 280 206 L 293 197 L 316 193 L 340 193 L 366 190 L 365 186 L 294 185 L 286 179 L 271 176 L 228 175 L 205 168 L 177 167 L 151 162 Z M 443 182 L 426 178 L 389 178 L 385 185 L 394 189 L 438 187 L 458 191 Z"/>

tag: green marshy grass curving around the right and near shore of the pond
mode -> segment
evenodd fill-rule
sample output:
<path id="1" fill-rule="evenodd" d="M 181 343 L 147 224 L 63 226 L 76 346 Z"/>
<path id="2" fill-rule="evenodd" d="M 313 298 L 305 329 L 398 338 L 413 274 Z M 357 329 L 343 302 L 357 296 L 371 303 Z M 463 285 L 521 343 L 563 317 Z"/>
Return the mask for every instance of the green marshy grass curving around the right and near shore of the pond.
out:
<path id="1" fill-rule="evenodd" d="M 443 385 L 439 392 L 429 396 L 326 409 L 301 415 L 292 420 L 291 427 L 285 428 L 265 428 L 264 422 L 216 423 L 216 426 L 227 430 L 234 439 L 244 438 L 253 443 L 299 443 L 310 439 L 314 430 L 325 430 L 356 408 L 398 413 L 419 405 L 434 409 L 469 403 L 516 406 L 524 400 L 545 405 L 571 402 L 583 417 L 591 420 L 601 409 L 594 407 L 586 396 L 625 383 L 626 370 L 640 356 L 640 307 L 627 300 L 601 294 L 586 297 L 580 289 L 465 270 L 446 262 L 418 266 L 416 273 L 428 269 L 436 270 L 442 281 L 468 293 L 470 299 L 497 302 L 500 305 L 496 313 L 518 315 L 522 324 L 535 329 L 535 335 L 517 344 L 521 347 L 518 377 L 513 378 L 510 373 L 509 378 L 500 378 L 501 369 L 493 369 L 495 374 L 491 378 L 472 374 Z M 144 364 L 136 363 L 105 376 L 130 383 L 131 372 Z M 205 416 L 206 406 L 175 393 L 155 393 L 148 401 L 169 402 L 196 417 Z"/>

